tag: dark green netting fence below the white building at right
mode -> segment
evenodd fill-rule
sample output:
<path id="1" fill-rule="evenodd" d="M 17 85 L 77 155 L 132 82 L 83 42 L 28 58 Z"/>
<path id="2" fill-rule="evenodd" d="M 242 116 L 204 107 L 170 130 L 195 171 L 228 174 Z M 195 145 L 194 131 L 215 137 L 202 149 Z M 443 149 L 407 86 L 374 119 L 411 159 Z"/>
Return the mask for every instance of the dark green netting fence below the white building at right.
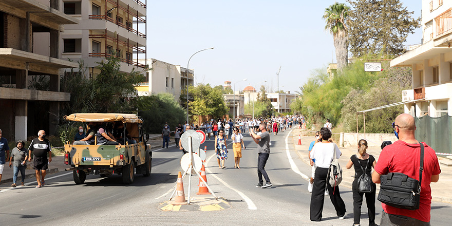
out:
<path id="1" fill-rule="evenodd" d="M 416 139 L 427 143 L 438 155 L 452 154 L 452 117 L 431 118 L 426 115 L 416 120 Z"/>

